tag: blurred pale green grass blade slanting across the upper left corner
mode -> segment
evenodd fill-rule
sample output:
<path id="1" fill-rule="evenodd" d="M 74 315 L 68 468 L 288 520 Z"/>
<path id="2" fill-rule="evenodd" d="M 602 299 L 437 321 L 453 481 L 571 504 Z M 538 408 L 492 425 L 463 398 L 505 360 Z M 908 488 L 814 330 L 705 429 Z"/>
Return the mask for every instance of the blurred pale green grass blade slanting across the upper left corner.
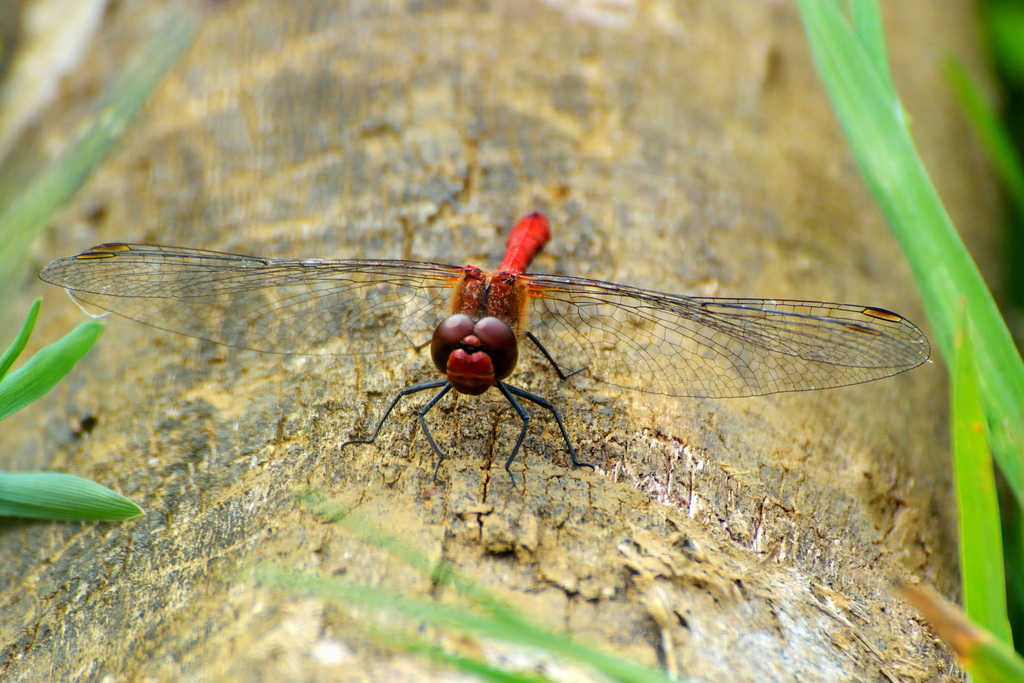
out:
<path id="1" fill-rule="evenodd" d="M 139 66 L 106 98 L 84 135 L 0 212 L 0 242 L 3 244 L 0 291 L 9 291 L 37 230 L 71 199 L 121 138 L 128 122 L 188 44 L 196 24 L 194 18 L 169 23 L 154 39 Z"/>

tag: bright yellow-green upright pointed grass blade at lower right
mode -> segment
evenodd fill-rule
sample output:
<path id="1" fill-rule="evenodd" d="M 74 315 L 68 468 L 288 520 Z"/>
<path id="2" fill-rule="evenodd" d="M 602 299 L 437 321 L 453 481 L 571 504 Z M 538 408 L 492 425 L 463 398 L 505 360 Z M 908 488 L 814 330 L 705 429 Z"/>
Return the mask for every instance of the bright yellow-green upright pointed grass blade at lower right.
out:
<path id="1" fill-rule="evenodd" d="M 1012 646 L 999 502 L 971 342 L 970 330 L 962 328 L 953 342 L 951 400 L 964 608 L 972 621 Z"/>

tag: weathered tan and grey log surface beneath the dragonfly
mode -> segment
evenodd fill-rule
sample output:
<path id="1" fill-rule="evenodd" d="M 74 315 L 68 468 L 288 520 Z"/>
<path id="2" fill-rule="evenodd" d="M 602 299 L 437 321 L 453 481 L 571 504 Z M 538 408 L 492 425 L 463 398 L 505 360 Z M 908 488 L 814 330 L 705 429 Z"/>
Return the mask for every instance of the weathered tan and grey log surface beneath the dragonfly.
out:
<path id="1" fill-rule="evenodd" d="M 59 147 L 170 5 L 112 7 L 24 150 Z M 994 190 L 940 74 L 948 52 L 978 59 L 972 11 L 885 18 L 919 148 L 984 264 Z M 925 323 L 796 6 L 769 1 L 225 4 L 38 257 L 124 241 L 494 266 L 532 210 L 554 233 L 537 271 Z M 43 285 L 24 300 L 39 294 L 37 339 L 81 318 Z M 497 392 L 430 414 L 451 454 L 437 481 L 422 399 L 374 445 L 341 447 L 398 389 L 436 378 L 429 354 L 380 343 L 380 357 L 276 356 L 112 318 L 63 384 L 4 424 L 8 469 L 87 476 L 146 514 L 2 522 L 4 677 L 436 678 L 362 631 L 385 617 L 245 578 L 272 563 L 457 602 L 325 524 L 296 500 L 312 487 L 547 628 L 687 680 L 959 678 L 889 588 L 958 595 L 942 359 L 850 388 L 698 400 L 560 382 L 525 354 L 510 380 L 552 400 L 599 469 L 572 469 L 527 409 L 513 487 L 518 421 Z"/>

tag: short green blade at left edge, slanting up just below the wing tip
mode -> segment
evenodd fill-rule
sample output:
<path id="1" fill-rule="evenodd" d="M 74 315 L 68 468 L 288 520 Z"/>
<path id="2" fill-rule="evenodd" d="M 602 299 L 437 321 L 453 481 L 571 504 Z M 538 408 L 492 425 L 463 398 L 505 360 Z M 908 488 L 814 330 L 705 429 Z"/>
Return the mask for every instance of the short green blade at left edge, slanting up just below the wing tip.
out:
<path id="1" fill-rule="evenodd" d="M 41 348 L 28 362 L 0 380 L 0 420 L 56 386 L 101 334 L 103 326 L 99 323 L 83 323 L 63 339 Z"/>

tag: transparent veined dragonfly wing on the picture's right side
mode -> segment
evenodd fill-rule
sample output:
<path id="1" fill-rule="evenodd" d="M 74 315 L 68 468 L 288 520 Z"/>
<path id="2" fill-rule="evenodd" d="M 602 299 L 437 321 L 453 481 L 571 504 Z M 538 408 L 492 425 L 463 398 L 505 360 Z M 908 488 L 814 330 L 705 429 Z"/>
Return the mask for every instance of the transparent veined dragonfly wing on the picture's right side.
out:
<path id="1" fill-rule="evenodd" d="M 670 396 L 736 397 L 889 377 L 928 359 L 902 316 L 817 301 L 695 298 L 524 275 L 531 331 L 565 372 Z"/>

